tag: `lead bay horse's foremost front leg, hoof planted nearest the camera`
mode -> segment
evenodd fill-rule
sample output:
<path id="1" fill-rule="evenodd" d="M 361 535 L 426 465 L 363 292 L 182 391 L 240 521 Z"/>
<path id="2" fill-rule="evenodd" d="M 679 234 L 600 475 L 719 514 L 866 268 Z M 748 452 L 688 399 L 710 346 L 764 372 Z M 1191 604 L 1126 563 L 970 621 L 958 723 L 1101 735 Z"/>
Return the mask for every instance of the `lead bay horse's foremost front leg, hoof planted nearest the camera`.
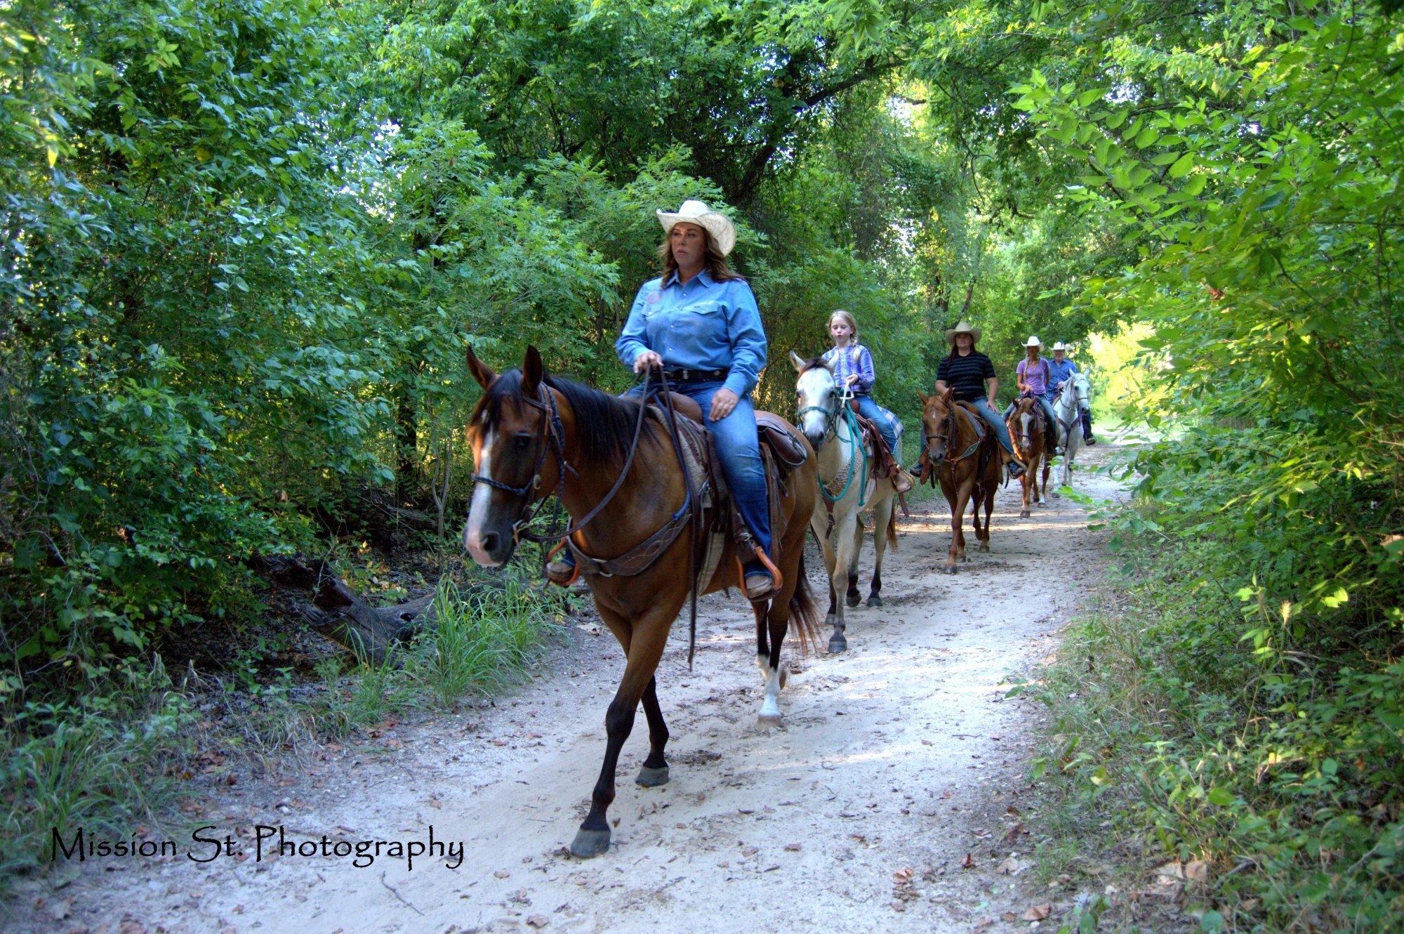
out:
<path id="1" fill-rule="evenodd" d="M 616 635 L 621 632 L 628 633 L 628 645 L 625 645 L 628 660 L 625 662 L 619 690 L 615 691 L 615 697 L 609 701 L 608 711 L 605 711 L 605 761 L 600 767 L 600 778 L 595 781 L 594 794 L 590 798 L 590 813 L 585 815 L 574 841 L 570 844 L 570 853 L 581 858 L 597 857 L 609 848 L 608 812 L 615 798 L 615 771 L 619 765 L 619 750 L 623 749 L 623 742 L 629 739 L 629 733 L 633 730 L 633 718 L 639 709 L 639 701 L 643 698 L 649 683 L 653 681 L 653 673 L 658 667 L 658 659 L 663 657 L 663 646 L 668 639 L 668 626 L 673 618 L 678 615 L 678 610 L 682 608 L 682 600 L 675 597 L 654 605 L 642 618 L 636 619 L 632 628 L 622 614 L 600 607 L 598 601 L 595 607 L 612 632 Z M 625 638 L 621 638 L 621 643 L 623 642 Z M 657 704 L 657 695 L 654 695 L 653 702 Z M 660 723 L 661 719 L 660 712 Z"/>

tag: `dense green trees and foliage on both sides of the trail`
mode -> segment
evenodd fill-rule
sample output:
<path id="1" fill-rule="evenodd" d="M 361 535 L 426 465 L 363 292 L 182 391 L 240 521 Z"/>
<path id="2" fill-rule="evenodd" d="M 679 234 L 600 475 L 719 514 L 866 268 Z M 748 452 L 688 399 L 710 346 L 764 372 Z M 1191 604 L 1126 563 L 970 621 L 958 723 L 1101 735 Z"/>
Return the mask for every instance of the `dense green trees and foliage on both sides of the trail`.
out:
<path id="1" fill-rule="evenodd" d="M 1001 375 L 1029 333 L 1094 374 L 1091 334 L 1148 334 L 1122 416 L 1158 441 L 1105 521 L 1158 621 L 1126 664 L 1185 716 L 1049 771 L 1094 809 L 1119 775 L 1129 833 L 1238 867 L 1221 896 L 1272 930 L 1387 927 L 1398 6 L 6 4 L 10 761 L 115 673 L 257 626 L 256 559 L 386 510 L 452 537 L 463 348 L 622 389 L 653 212 L 702 198 L 771 360 L 845 308 L 908 426 L 960 317 Z M 758 402 L 788 412 L 790 379 Z M 14 810 L 34 780 L 7 772 Z"/>

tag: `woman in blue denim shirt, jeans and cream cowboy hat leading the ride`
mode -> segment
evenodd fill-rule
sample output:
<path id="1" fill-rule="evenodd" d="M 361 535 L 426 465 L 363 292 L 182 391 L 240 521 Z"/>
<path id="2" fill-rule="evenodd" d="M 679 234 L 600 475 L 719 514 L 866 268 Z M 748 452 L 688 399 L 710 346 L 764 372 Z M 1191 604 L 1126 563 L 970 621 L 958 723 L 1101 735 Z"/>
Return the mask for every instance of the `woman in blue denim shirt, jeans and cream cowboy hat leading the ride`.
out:
<path id="1" fill-rule="evenodd" d="M 661 367 L 674 392 L 702 406 L 736 508 L 769 553 L 765 471 L 751 406 L 751 389 L 765 367 L 765 330 L 751 287 L 726 263 L 736 228 L 701 201 L 684 201 L 677 212 L 657 215 L 665 232 L 658 247 L 663 275 L 639 289 L 615 353 L 636 374 Z M 630 395 L 640 392 L 636 386 Z M 747 562 L 744 572 L 751 600 L 774 591 L 761 562 Z M 555 569 L 548 573 L 557 576 Z"/>

